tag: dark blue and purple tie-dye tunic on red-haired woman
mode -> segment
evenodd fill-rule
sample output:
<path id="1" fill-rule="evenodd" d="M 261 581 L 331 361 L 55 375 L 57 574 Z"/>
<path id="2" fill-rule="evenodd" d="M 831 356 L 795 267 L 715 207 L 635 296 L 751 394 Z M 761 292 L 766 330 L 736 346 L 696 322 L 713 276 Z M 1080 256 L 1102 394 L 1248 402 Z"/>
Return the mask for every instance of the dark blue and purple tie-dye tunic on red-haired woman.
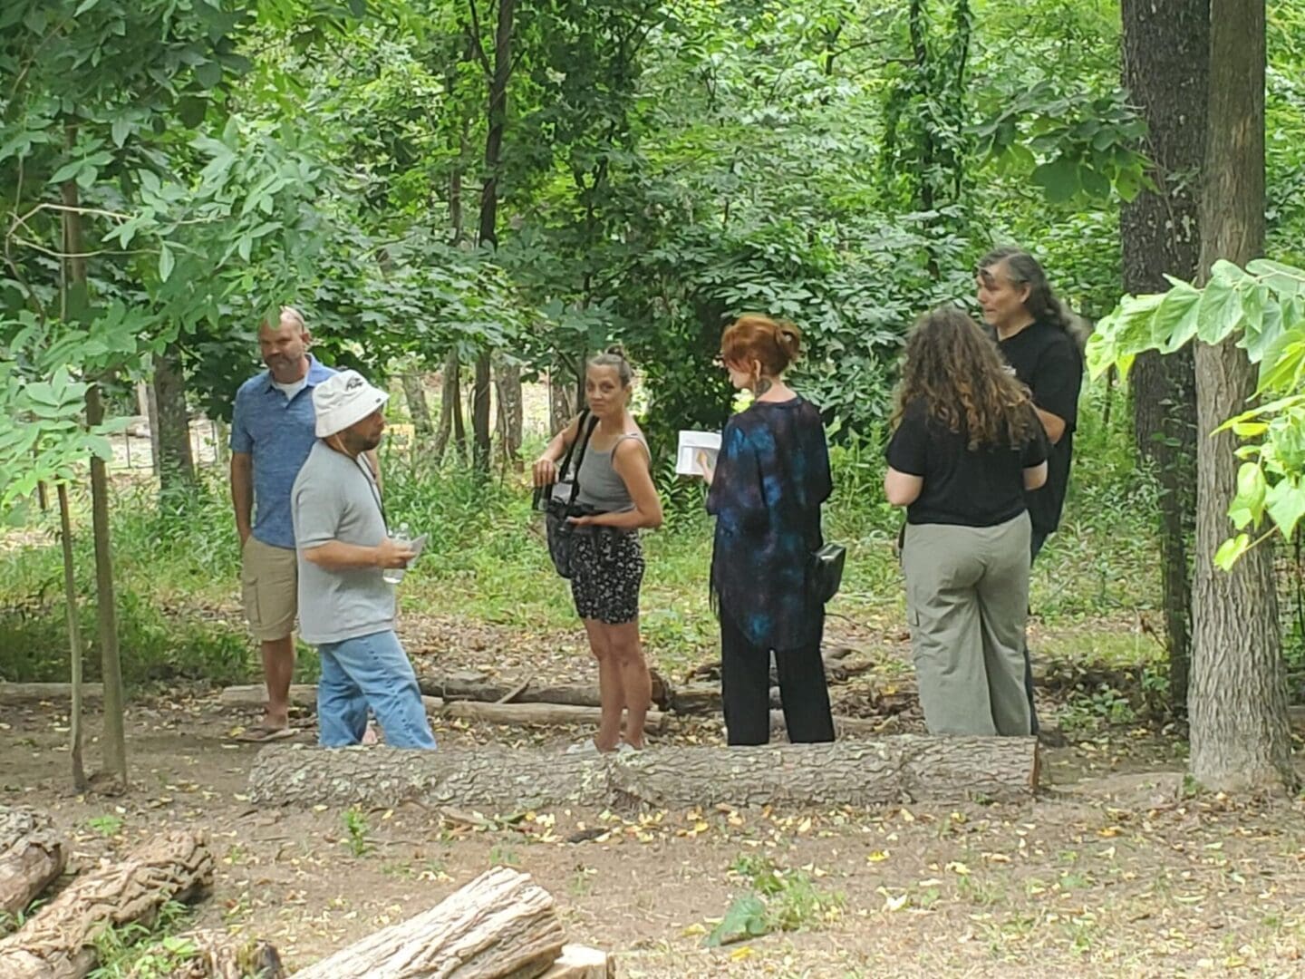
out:
<path id="1" fill-rule="evenodd" d="M 757 646 L 820 640 L 821 607 L 806 577 L 831 488 L 825 426 L 810 402 L 754 402 L 726 424 L 707 492 L 716 517 L 711 590 L 720 615 Z"/>

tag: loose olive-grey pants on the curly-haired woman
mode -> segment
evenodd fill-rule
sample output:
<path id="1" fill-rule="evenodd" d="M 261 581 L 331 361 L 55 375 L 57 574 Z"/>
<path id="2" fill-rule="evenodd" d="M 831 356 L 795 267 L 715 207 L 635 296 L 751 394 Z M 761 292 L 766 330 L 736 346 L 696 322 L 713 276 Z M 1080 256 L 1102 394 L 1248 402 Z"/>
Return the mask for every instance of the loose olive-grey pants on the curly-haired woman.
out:
<path id="1" fill-rule="evenodd" d="M 906 529 L 907 620 L 930 734 L 1027 735 L 1028 514 Z"/>

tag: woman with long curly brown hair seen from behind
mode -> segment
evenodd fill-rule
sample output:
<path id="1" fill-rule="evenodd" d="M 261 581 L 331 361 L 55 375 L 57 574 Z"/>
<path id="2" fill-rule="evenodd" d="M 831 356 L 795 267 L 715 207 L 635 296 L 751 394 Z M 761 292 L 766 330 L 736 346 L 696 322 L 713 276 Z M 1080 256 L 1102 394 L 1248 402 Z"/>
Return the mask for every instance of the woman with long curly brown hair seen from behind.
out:
<path id="1" fill-rule="evenodd" d="M 1024 491 L 1047 482 L 1047 436 L 996 343 L 959 309 L 907 339 L 883 491 L 907 508 L 907 619 L 933 734 L 1028 735 Z"/>

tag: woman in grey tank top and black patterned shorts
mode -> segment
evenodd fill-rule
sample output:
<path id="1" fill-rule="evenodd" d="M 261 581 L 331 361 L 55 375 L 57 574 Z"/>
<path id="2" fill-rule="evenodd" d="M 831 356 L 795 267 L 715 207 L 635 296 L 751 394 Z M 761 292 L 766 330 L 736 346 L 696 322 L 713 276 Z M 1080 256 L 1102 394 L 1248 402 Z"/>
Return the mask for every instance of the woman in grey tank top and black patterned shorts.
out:
<path id="1" fill-rule="evenodd" d="M 574 517 L 572 597 L 598 660 L 602 719 L 598 732 L 570 753 L 636 751 L 643 747 L 643 719 L 652 683 L 639 642 L 639 585 L 643 551 L 638 531 L 662 526 L 662 501 L 652 484 L 649 448 L 629 411 L 633 375 L 619 347 L 591 359 L 585 399 L 592 422 L 581 461 Z M 579 419 L 559 432 L 534 465 L 535 486 L 557 482 L 557 462 L 577 439 Z M 621 739 L 621 715 L 625 738 Z"/>

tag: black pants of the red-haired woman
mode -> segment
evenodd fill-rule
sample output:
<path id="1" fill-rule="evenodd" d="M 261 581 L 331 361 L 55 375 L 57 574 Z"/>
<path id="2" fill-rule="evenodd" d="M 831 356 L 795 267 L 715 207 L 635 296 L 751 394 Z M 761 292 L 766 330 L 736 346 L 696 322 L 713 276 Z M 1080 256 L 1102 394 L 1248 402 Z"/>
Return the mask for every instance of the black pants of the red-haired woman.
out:
<path id="1" fill-rule="evenodd" d="M 774 651 L 784 724 L 793 744 L 834 740 L 825 660 L 820 655 L 822 632 L 809 646 Z M 720 610 L 720 694 L 729 744 L 770 740 L 770 653 L 749 642 L 728 610 Z"/>

